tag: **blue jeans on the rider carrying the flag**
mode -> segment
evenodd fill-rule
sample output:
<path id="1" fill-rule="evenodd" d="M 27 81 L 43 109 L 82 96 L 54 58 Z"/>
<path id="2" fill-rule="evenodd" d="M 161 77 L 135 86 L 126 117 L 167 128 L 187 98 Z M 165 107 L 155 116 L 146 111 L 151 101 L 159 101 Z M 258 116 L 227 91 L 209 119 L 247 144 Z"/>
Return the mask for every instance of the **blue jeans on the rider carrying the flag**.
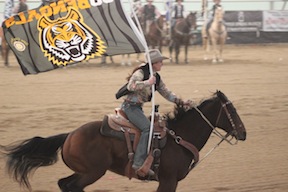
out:
<path id="1" fill-rule="evenodd" d="M 141 131 L 141 136 L 136 148 L 133 163 L 134 166 L 140 167 L 143 165 L 147 157 L 150 121 L 145 116 L 141 105 L 134 105 L 125 101 L 122 104 L 121 109 L 125 112 L 129 121 Z"/>

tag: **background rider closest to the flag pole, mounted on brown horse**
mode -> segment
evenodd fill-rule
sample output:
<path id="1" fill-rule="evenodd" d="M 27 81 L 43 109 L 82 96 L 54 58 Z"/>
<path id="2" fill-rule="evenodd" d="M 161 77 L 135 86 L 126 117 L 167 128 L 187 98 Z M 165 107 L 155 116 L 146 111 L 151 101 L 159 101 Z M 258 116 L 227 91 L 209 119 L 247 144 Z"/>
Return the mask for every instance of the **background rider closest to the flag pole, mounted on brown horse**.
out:
<path id="1" fill-rule="evenodd" d="M 147 4 L 141 9 L 141 13 L 144 17 L 144 29 L 145 34 L 149 33 L 149 27 L 152 22 L 161 15 L 155 5 L 153 5 L 153 0 L 147 0 Z"/>

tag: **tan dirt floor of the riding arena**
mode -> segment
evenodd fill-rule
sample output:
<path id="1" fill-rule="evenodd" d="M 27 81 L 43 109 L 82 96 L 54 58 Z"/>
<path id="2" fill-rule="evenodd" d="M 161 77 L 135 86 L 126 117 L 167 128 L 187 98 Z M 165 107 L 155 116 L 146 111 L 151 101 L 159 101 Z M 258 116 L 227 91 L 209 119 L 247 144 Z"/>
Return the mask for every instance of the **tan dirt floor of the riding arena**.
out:
<path id="1" fill-rule="evenodd" d="M 163 51 L 168 55 L 167 50 Z M 189 51 L 189 64 L 164 63 L 161 76 L 183 99 L 199 102 L 216 90 L 235 105 L 247 129 L 247 140 L 231 146 L 223 142 L 178 185 L 177 192 L 287 192 L 288 191 L 288 45 L 227 45 L 224 63 L 202 60 L 200 47 Z M 0 144 L 69 132 L 102 119 L 121 100 L 115 92 L 133 66 L 99 64 L 99 60 L 38 75 L 24 76 L 11 56 L 11 66 L 0 62 Z M 181 55 L 183 61 L 183 55 Z M 160 112 L 172 111 L 156 93 Z M 150 104 L 145 106 L 149 114 Z M 219 139 L 212 136 L 203 157 Z M 175 157 L 177 158 L 177 157 Z M 33 192 L 59 191 L 59 178 L 71 174 L 62 162 L 38 169 L 31 178 Z M 21 189 L 5 173 L 0 159 L 0 191 Z M 107 172 L 87 192 L 152 192 L 157 182 L 142 182 Z"/>

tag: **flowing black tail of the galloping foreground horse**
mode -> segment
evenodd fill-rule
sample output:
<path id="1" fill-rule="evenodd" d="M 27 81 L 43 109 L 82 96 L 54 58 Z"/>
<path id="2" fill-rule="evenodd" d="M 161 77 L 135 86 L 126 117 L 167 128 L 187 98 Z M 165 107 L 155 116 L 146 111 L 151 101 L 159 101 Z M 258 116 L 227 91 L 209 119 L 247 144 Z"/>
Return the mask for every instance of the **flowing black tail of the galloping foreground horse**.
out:
<path id="1" fill-rule="evenodd" d="M 47 138 L 34 137 L 7 146 L 0 146 L 0 152 L 7 157 L 6 167 L 9 175 L 21 186 L 31 189 L 28 177 L 42 166 L 53 165 L 58 160 L 58 151 L 68 134 Z"/>

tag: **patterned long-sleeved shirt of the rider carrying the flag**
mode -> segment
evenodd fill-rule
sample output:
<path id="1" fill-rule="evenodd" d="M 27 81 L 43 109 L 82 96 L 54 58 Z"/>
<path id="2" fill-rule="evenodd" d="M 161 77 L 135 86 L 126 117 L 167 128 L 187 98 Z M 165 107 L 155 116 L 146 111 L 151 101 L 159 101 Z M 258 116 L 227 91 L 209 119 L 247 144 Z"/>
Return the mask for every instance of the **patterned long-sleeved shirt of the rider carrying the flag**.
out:
<path id="1" fill-rule="evenodd" d="M 129 93 L 125 100 L 142 104 L 149 101 L 152 93 L 152 86 L 145 84 L 143 79 L 144 72 L 142 69 L 138 69 L 132 74 L 127 85 L 128 90 L 132 91 L 132 93 Z M 177 99 L 177 96 L 167 89 L 166 85 L 161 79 L 157 91 L 168 101 L 175 102 Z"/>

